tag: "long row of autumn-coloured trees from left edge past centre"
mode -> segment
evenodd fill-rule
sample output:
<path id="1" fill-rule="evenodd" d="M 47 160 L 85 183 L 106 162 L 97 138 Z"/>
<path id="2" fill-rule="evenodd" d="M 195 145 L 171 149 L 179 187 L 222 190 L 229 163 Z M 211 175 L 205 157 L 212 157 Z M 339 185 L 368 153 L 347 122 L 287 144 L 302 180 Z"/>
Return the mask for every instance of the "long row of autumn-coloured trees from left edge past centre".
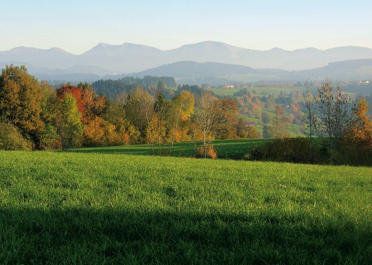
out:
<path id="1" fill-rule="evenodd" d="M 125 85 L 129 89 L 111 99 L 88 83 L 55 89 L 25 66 L 6 66 L 0 75 L 0 148 L 68 150 L 148 143 L 154 154 L 165 154 L 175 142 L 202 141 L 200 155 L 207 156 L 211 139 L 258 137 L 254 128 L 244 126 L 234 99 L 217 99 L 198 86 L 174 91 L 162 81 Z"/>

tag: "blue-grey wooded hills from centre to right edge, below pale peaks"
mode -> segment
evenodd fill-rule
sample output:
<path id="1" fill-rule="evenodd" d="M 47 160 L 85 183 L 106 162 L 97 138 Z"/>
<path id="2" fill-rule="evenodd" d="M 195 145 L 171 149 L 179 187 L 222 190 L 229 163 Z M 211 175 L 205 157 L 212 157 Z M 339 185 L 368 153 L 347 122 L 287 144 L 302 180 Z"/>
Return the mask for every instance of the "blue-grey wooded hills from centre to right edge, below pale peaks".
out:
<path id="1" fill-rule="evenodd" d="M 180 83 L 211 83 L 212 85 L 228 81 L 304 81 L 324 79 L 326 76 L 334 80 L 369 80 L 372 79 L 372 59 L 347 60 L 329 63 L 327 66 L 302 71 L 286 71 L 281 69 L 253 69 L 251 67 L 224 64 L 198 63 L 182 61 L 151 68 L 128 75 L 143 77 L 173 76 Z M 115 75 L 106 76 L 115 78 Z"/>

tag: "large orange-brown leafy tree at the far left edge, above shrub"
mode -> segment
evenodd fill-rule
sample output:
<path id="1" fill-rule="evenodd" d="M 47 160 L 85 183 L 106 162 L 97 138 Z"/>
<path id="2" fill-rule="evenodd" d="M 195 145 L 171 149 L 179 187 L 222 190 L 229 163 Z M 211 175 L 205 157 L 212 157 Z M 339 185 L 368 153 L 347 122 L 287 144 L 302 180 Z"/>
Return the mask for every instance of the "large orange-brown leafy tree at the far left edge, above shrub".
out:
<path id="1" fill-rule="evenodd" d="M 0 113 L 18 127 L 22 135 L 39 146 L 44 129 L 41 120 L 43 94 L 38 80 L 28 74 L 27 68 L 7 65 L 0 75 Z"/>

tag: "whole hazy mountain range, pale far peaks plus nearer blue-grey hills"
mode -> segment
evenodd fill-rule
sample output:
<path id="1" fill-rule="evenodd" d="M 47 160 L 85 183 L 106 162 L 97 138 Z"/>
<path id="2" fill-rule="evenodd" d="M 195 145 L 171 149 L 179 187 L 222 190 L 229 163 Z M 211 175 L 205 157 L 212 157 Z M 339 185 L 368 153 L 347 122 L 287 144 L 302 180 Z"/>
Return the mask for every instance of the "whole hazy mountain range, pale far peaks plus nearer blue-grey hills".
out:
<path id="1" fill-rule="evenodd" d="M 335 73 L 334 78 L 359 79 L 370 78 L 369 61 L 365 59 L 372 59 L 372 49 L 354 46 L 259 51 L 206 41 L 160 50 L 131 43 L 100 43 L 80 55 L 59 48 L 17 47 L 0 51 L 0 68 L 10 63 L 25 64 L 39 79 L 68 81 L 129 73 L 239 81 L 313 79 Z"/>

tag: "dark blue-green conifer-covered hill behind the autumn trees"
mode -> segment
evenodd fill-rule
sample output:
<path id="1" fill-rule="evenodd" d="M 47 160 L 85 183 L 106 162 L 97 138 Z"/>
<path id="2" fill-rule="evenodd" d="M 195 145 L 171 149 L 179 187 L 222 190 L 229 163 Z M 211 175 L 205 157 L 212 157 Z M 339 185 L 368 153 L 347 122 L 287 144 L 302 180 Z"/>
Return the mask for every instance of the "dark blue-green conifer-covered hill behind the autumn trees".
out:
<path id="1" fill-rule="evenodd" d="M 126 76 L 121 79 L 100 79 L 92 83 L 93 91 L 100 95 L 105 95 L 109 99 L 116 99 L 121 93 L 129 94 L 134 91 L 137 85 L 141 85 L 145 89 L 151 85 L 162 83 L 165 87 L 176 87 L 176 81 L 173 77 L 156 77 L 144 76 L 143 78 Z"/>

